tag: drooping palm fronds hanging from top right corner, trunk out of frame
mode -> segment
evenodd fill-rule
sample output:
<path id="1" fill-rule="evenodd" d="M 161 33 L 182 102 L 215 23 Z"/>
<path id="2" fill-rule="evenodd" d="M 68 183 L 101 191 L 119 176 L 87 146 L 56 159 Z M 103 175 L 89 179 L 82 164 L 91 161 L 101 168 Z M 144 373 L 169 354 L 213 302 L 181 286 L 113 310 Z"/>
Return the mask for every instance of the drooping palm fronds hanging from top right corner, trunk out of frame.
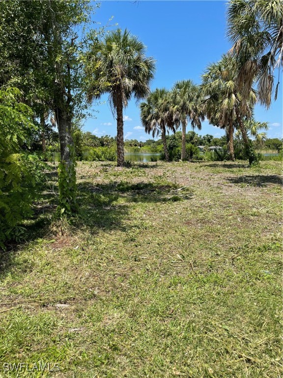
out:
<path id="1" fill-rule="evenodd" d="M 237 60 L 238 82 L 245 98 L 257 81 L 259 101 L 271 104 L 275 69 L 283 66 L 282 0 L 230 0 L 227 10 L 230 53 Z M 275 91 L 277 98 L 279 86 Z"/>

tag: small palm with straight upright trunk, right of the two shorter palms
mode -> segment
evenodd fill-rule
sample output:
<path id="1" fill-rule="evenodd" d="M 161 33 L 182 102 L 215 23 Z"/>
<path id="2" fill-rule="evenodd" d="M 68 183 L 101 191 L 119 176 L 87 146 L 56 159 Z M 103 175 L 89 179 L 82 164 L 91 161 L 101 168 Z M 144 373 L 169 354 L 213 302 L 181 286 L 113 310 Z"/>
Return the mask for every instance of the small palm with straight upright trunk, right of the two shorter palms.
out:
<path id="1" fill-rule="evenodd" d="M 172 113 L 175 119 L 182 124 L 182 152 L 181 160 L 186 157 L 186 126 L 188 120 L 194 129 L 196 126 L 201 129 L 201 121 L 204 116 L 200 111 L 199 90 L 191 80 L 177 81 L 172 89 L 173 105 Z"/>

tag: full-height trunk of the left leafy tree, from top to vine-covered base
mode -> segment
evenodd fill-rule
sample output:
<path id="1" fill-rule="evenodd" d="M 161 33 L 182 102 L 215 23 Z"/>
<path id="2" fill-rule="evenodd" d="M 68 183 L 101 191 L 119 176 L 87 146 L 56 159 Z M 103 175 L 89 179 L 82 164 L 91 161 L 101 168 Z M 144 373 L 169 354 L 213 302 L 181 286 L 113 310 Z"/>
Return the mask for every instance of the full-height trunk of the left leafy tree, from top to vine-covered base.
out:
<path id="1" fill-rule="evenodd" d="M 77 184 L 76 184 L 76 160 L 73 138 L 71 135 L 71 122 L 73 118 L 73 95 L 71 55 L 66 54 L 62 29 L 57 22 L 59 13 L 50 8 L 50 35 L 48 36 L 47 51 L 50 64 L 54 64 L 54 88 L 52 94 L 53 109 L 56 114 L 57 127 L 60 141 L 61 161 L 58 167 L 59 207 L 61 214 L 74 215 L 77 208 Z M 64 37 L 66 38 L 66 37 Z M 76 38 L 72 38 L 73 46 Z M 67 40 L 67 39 L 65 39 Z M 64 59 L 62 59 L 64 57 Z M 66 62 L 65 62 L 66 59 Z M 51 71 L 52 72 L 52 71 Z"/>

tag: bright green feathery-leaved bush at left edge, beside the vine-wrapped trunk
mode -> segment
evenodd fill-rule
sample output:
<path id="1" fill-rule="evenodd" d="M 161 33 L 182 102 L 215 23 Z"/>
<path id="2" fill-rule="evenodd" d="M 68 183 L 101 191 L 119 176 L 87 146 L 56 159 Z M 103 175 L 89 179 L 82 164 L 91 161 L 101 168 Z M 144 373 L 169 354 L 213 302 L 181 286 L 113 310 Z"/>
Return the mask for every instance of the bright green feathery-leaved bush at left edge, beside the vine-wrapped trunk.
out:
<path id="1" fill-rule="evenodd" d="M 31 109 L 18 101 L 16 88 L 0 90 L 0 246 L 19 234 L 19 222 L 31 213 L 31 203 L 43 180 L 43 162 L 28 153 L 36 130 Z"/>

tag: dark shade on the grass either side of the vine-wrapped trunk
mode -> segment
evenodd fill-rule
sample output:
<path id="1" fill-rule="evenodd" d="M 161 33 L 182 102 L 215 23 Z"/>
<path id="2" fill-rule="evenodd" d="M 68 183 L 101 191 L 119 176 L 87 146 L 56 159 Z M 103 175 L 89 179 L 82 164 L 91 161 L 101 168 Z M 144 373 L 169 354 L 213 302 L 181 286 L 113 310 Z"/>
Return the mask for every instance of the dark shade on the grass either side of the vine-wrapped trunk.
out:
<path id="1" fill-rule="evenodd" d="M 23 222 L 25 233 L 22 240 L 10 241 L 6 250 L 0 252 L 0 276 L 14 265 L 14 256 L 21 245 L 38 238 L 44 238 L 50 232 L 50 224 L 54 221 L 57 208 L 56 174 L 47 174 L 48 183 L 43 189 L 42 198 L 34 204 L 33 216 Z M 99 229 L 107 231 L 120 229 L 129 230 L 130 225 L 125 226 L 125 219 L 129 216 L 131 203 L 158 203 L 175 202 L 190 199 L 191 193 L 185 195 L 175 191 L 175 184 L 155 184 L 128 182 L 113 182 L 110 184 L 93 185 L 91 182 L 83 182 L 78 185 L 79 215 L 74 219 L 77 229 L 88 228 L 91 233 Z M 122 199 L 122 201 L 121 201 Z M 137 227 L 137 226 L 135 226 Z"/>

